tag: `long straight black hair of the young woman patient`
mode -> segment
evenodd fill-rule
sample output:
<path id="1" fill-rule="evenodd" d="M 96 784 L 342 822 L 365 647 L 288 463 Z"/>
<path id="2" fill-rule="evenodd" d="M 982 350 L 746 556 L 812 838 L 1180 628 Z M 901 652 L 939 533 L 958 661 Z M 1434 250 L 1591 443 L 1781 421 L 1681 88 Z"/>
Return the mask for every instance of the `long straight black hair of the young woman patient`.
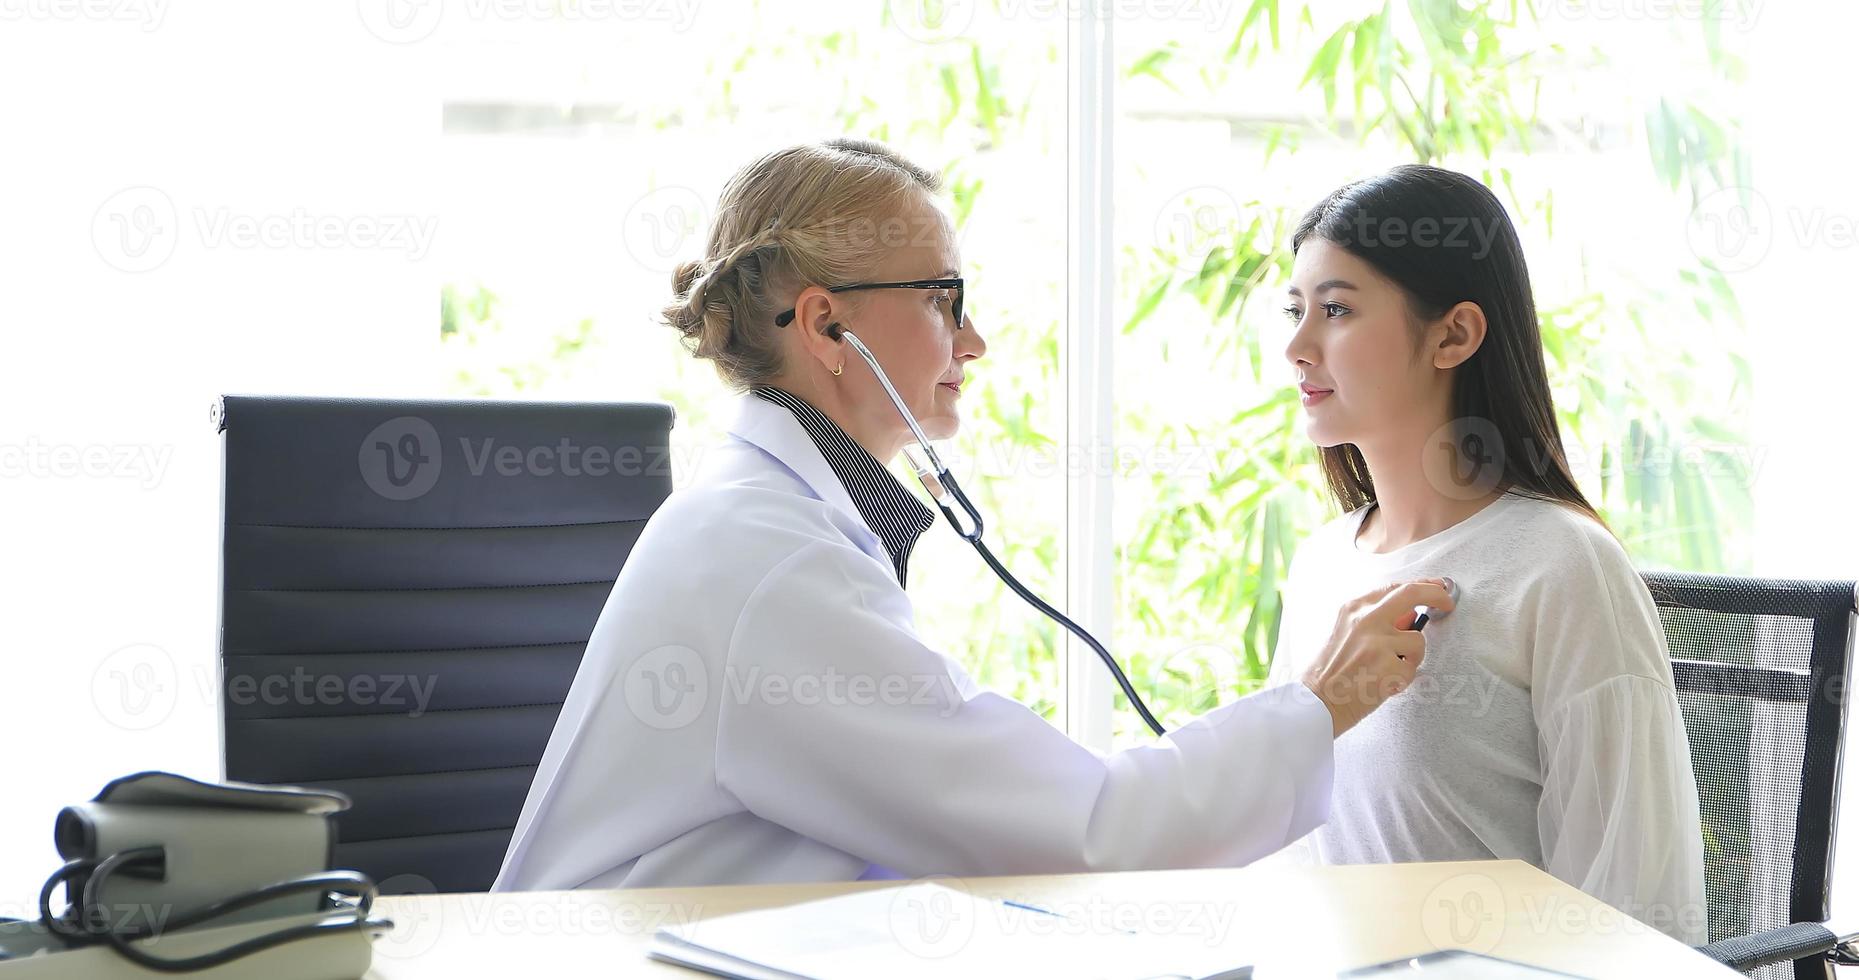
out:
<path id="1" fill-rule="evenodd" d="M 1601 521 L 1575 485 L 1543 366 L 1543 337 L 1523 244 L 1504 205 L 1478 180 L 1407 164 L 1337 188 L 1309 210 L 1292 251 L 1311 238 L 1368 262 L 1407 294 L 1411 318 L 1437 320 L 1478 303 L 1485 340 L 1452 372 L 1456 435 L 1498 439 L 1498 485 L 1558 500 Z M 1465 443 L 1461 443 L 1465 444 Z M 1376 502 L 1376 483 L 1355 444 L 1320 450 L 1324 480 L 1346 511 Z M 1604 524 L 1604 523 L 1602 523 Z"/>

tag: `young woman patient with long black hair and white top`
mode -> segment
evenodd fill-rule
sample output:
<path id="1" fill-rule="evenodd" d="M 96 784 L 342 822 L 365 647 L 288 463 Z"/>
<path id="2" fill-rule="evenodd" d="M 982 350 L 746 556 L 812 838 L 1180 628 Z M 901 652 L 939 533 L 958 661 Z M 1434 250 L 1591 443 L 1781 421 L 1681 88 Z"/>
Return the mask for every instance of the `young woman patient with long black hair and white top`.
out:
<path id="1" fill-rule="evenodd" d="M 1688 943 L 1703 839 L 1658 616 L 1569 474 L 1517 232 L 1405 166 L 1292 238 L 1285 355 L 1344 517 L 1298 549 L 1273 682 L 1340 601 L 1452 576 L 1413 686 L 1342 735 L 1324 863 L 1517 857 Z"/>

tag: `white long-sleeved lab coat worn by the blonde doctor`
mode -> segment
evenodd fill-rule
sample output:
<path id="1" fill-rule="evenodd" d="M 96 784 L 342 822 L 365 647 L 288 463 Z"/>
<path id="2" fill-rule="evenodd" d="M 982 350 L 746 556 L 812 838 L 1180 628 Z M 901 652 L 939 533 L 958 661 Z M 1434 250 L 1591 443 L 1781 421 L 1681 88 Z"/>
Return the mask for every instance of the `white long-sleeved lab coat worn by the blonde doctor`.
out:
<path id="1" fill-rule="evenodd" d="M 1331 742 L 1301 684 L 1108 757 L 980 688 L 744 396 L 626 560 L 494 889 L 1246 865 L 1324 822 Z"/>

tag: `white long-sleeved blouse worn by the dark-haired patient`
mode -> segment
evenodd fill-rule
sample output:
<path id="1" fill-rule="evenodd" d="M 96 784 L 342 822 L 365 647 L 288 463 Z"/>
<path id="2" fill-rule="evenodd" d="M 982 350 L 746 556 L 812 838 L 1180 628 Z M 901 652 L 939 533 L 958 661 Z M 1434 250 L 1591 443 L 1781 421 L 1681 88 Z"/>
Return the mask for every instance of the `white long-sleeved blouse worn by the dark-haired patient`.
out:
<path id="1" fill-rule="evenodd" d="M 1450 575 L 1461 599 L 1426 627 L 1413 688 L 1337 740 L 1329 824 L 1294 848 L 1322 863 L 1517 857 L 1703 943 L 1690 746 L 1658 612 L 1619 541 L 1506 495 L 1374 554 L 1355 543 L 1365 513 L 1299 545 L 1273 684 L 1299 677 L 1350 597 Z"/>

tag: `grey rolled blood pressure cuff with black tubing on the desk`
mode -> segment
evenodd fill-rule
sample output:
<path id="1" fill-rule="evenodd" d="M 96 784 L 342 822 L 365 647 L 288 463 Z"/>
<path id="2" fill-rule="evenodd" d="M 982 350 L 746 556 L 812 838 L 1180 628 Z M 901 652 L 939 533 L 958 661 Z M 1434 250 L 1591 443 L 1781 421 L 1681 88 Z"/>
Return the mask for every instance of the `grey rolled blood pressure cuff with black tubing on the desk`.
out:
<path id="1" fill-rule="evenodd" d="M 201 783 L 169 772 L 112 781 L 89 803 L 58 814 L 54 839 L 65 861 L 102 863 L 134 848 L 162 848 L 160 861 L 123 865 L 95 889 L 95 915 L 117 930 L 156 928 L 232 894 L 329 870 L 340 792 L 249 783 Z M 89 872 L 71 878 L 76 894 Z M 322 909 L 320 894 L 281 894 L 227 913 L 223 924 Z"/>

